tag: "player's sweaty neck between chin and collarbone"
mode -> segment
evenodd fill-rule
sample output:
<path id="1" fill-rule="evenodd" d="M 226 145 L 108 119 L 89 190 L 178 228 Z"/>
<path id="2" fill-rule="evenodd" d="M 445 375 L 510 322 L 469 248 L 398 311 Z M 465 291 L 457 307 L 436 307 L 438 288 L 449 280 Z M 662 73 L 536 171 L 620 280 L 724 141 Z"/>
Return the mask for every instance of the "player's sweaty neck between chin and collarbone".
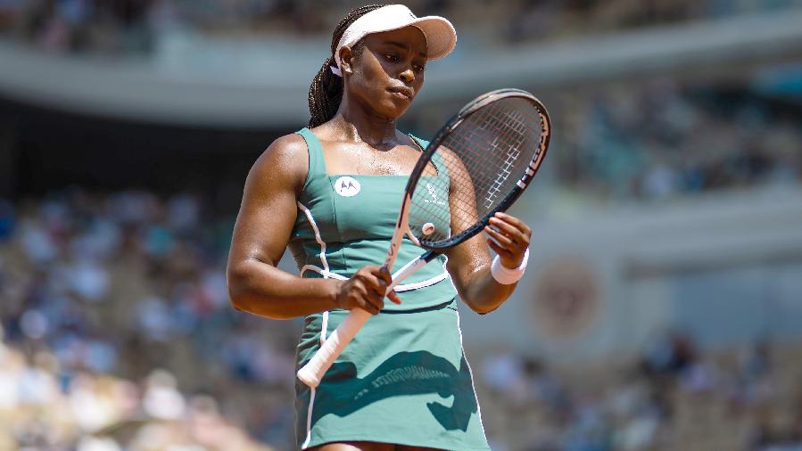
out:
<path id="1" fill-rule="evenodd" d="M 368 143 L 377 149 L 397 144 L 395 119 L 376 115 L 367 105 L 350 100 L 348 95 L 343 95 L 334 119 L 347 141 Z"/>

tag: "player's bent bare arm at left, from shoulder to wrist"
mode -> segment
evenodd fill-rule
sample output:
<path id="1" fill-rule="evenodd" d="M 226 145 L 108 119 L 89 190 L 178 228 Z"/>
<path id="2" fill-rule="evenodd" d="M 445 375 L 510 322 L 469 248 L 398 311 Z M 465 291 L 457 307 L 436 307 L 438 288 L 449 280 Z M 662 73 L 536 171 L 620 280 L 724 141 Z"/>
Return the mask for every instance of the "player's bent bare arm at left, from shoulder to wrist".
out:
<path id="1" fill-rule="evenodd" d="M 304 279 L 276 267 L 293 230 L 307 161 L 303 138 L 287 135 L 270 144 L 248 174 L 226 272 L 237 309 L 286 319 L 337 307 L 339 282 Z"/>

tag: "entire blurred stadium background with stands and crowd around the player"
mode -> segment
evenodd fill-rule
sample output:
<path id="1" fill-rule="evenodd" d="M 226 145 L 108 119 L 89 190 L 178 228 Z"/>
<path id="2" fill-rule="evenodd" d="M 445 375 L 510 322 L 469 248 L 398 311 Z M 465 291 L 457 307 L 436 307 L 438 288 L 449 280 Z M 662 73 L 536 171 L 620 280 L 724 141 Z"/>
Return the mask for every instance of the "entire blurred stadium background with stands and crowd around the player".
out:
<path id="1" fill-rule="evenodd" d="M 557 134 L 524 282 L 462 308 L 493 449 L 802 447 L 802 2 L 408 4 L 459 45 L 405 129 L 517 86 Z M 227 246 L 356 5 L 0 0 L 0 450 L 293 447 L 300 322 Z"/>

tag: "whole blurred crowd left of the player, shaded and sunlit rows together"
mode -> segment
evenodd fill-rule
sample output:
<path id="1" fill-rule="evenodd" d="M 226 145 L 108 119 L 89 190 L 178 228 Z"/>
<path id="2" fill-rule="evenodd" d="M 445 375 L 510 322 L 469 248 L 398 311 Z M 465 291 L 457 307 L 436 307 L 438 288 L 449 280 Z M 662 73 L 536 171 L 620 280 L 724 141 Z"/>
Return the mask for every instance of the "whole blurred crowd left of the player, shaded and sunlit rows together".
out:
<path id="1" fill-rule="evenodd" d="M 126 449 L 167 449 L 136 445 L 151 435 L 231 449 L 245 433 L 289 448 L 299 326 L 230 307 L 231 226 L 188 194 L 0 203 L 0 449 L 117 428 Z"/>

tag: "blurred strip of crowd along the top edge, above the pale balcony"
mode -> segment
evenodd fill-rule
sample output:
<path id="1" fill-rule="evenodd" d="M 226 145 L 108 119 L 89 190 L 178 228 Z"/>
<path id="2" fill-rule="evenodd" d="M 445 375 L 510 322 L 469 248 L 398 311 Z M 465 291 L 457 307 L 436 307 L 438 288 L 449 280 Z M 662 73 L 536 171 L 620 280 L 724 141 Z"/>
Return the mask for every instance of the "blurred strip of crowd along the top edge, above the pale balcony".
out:
<path id="1" fill-rule="evenodd" d="M 328 35 L 353 0 L 0 0 L 0 33 L 50 51 L 147 53 L 171 29 Z M 381 3 L 381 2 L 376 2 Z M 519 42 L 802 7 L 802 0 L 409 0 L 490 40 Z"/>

